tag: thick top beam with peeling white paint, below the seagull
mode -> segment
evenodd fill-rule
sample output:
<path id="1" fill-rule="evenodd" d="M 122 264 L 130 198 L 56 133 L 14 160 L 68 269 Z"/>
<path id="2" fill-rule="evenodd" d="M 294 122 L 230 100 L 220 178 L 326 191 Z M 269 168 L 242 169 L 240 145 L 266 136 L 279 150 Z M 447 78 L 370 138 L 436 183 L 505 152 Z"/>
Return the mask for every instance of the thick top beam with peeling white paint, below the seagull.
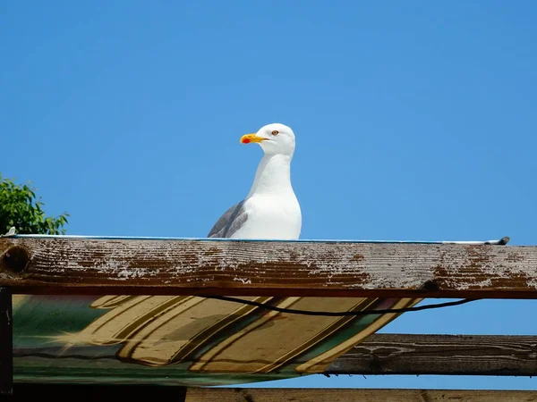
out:
<path id="1" fill-rule="evenodd" d="M 18 293 L 537 298 L 537 247 L 0 239 Z"/>

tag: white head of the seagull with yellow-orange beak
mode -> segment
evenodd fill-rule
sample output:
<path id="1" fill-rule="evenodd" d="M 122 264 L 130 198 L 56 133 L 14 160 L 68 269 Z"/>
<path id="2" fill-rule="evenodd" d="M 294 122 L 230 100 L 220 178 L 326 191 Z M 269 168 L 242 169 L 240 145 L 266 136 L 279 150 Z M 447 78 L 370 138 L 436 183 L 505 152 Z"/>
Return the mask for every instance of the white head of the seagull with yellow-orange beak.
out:
<path id="1" fill-rule="evenodd" d="M 255 134 L 241 137 L 242 144 L 258 143 L 268 155 L 289 155 L 294 153 L 294 132 L 284 124 L 272 123 L 261 127 Z"/>

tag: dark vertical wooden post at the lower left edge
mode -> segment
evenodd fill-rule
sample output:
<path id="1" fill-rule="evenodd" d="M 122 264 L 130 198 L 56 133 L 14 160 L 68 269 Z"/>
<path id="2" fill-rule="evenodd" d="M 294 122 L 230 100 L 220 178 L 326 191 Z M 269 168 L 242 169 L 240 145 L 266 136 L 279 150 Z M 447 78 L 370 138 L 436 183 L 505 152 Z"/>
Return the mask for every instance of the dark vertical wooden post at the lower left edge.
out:
<path id="1" fill-rule="evenodd" d="M 0 287 L 0 395 L 13 390 L 13 306 L 12 292 Z"/>

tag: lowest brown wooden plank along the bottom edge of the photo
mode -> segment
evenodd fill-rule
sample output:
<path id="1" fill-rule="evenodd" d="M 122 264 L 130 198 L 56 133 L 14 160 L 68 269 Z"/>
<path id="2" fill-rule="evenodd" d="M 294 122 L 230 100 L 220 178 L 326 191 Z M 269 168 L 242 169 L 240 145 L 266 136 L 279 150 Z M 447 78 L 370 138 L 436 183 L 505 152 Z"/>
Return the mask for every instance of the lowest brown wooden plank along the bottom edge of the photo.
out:
<path id="1" fill-rule="evenodd" d="M 533 402 L 537 391 L 463 389 L 188 389 L 186 402 Z"/>

